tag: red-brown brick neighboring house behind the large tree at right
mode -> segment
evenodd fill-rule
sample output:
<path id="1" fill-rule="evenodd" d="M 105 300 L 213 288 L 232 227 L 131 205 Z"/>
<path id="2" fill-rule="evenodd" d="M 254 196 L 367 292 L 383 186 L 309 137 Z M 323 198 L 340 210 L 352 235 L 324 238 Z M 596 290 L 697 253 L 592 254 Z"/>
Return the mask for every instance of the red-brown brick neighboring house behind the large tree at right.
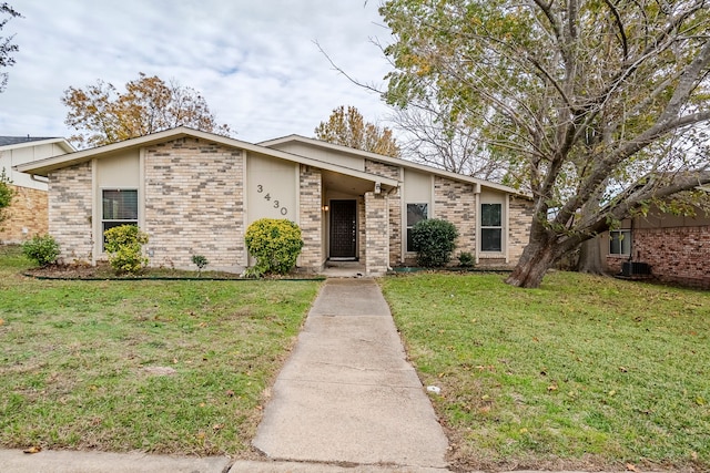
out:
<path id="1" fill-rule="evenodd" d="M 710 216 L 701 209 L 696 217 L 651 209 L 599 240 L 609 273 L 710 289 Z"/>

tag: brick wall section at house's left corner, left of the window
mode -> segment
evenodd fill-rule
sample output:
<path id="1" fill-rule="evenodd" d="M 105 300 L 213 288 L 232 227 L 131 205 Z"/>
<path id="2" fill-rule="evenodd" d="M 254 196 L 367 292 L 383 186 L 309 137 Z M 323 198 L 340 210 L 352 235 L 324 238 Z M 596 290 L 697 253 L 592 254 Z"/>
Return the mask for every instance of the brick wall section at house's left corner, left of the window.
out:
<path id="1" fill-rule="evenodd" d="M 49 175 L 49 234 L 59 243 L 60 263 L 92 260 L 91 177 L 91 162 Z"/>

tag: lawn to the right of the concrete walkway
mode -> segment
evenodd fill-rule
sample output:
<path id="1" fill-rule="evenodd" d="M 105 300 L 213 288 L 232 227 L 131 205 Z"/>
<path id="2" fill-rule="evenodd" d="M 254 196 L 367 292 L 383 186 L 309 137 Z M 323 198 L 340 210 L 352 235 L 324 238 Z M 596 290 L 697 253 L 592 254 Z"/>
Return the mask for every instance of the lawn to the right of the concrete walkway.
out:
<path id="1" fill-rule="evenodd" d="M 710 470 L 710 292 L 570 273 L 382 285 L 459 464 Z"/>

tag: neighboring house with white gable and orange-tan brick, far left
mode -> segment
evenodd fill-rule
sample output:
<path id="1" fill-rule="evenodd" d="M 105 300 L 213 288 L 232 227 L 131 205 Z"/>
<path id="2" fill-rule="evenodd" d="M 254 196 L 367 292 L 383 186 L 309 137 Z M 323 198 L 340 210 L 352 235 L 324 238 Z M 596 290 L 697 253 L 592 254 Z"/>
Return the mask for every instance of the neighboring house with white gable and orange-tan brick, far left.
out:
<path id="1" fill-rule="evenodd" d="M 47 179 L 19 173 L 14 166 L 73 152 L 64 138 L 0 136 L 0 172 L 12 182 L 17 194 L 0 224 L 0 243 L 20 243 L 48 232 Z"/>

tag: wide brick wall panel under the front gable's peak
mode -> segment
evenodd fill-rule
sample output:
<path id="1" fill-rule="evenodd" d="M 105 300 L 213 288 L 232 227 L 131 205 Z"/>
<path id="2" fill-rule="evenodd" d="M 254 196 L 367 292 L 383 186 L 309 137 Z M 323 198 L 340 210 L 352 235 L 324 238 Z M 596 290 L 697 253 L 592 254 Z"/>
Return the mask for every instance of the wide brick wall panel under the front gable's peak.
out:
<path id="1" fill-rule="evenodd" d="M 239 150 L 180 138 L 145 150 L 150 266 L 240 270 L 244 261 L 244 157 Z"/>

